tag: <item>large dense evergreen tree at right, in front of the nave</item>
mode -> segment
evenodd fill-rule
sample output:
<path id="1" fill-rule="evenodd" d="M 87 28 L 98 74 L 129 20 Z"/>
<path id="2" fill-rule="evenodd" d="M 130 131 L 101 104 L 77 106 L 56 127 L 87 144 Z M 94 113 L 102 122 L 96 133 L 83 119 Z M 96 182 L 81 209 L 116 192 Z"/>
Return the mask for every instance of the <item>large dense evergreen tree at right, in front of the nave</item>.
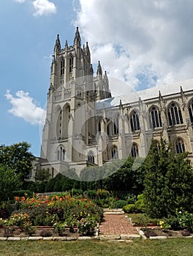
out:
<path id="1" fill-rule="evenodd" d="M 161 140 L 153 140 L 143 167 L 145 212 L 154 218 L 168 217 L 176 209 L 192 211 L 193 173 L 187 154 L 173 154 Z"/>

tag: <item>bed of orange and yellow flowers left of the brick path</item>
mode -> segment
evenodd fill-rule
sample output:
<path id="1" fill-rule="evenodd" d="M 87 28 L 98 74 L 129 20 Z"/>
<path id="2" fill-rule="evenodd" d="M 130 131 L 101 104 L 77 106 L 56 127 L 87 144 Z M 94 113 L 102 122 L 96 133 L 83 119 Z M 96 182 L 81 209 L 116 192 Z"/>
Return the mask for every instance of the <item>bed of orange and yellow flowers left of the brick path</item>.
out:
<path id="1" fill-rule="evenodd" d="M 39 236 L 38 227 L 50 226 L 54 236 L 93 235 L 95 227 L 103 217 L 102 208 L 86 198 L 71 197 L 67 194 L 34 196 L 32 198 L 15 197 L 15 210 L 9 219 L 0 219 L 0 227 L 6 227 L 4 236 L 12 233 L 15 226 L 20 233 Z M 6 234 L 7 233 L 7 234 Z M 49 233 L 49 232 L 48 232 Z M 45 236 L 48 236 L 45 232 Z"/>

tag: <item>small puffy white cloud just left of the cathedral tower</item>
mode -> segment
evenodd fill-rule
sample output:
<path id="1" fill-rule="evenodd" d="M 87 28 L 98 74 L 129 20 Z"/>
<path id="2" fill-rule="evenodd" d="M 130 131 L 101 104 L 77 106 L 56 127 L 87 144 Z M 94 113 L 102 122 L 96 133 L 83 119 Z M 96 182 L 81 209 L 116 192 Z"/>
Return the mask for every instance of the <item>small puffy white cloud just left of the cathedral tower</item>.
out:
<path id="1" fill-rule="evenodd" d="M 23 118 L 30 124 L 43 124 L 45 121 L 45 110 L 38 107 L 34 103 L 34 99 L 29 96 L 28 92 L 17 91 L 16 97 L 7 91 L 5 97 L 12 105 L 12 108 L 8 110 L 13 116 Z"/>

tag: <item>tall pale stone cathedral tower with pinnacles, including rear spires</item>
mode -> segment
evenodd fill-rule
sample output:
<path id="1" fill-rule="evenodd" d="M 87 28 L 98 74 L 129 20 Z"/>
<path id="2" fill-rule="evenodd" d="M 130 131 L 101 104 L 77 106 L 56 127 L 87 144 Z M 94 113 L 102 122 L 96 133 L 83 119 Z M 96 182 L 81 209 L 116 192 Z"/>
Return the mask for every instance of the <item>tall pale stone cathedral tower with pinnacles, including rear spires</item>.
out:
<path id="1" fill-rule="evenodd" d="M 96 135 L 96 100 L 108 97 L 107 74 L 102 75 L 99 62 L 94 77 L 88 42 L 81 47 L 78 28 L 73 45 L 66 41 L 61 48 L 58 35 L 42 135 L 42 166 L 48 167 L 50 163 L 56 170 L 86 166 L 86 147 Z"/>

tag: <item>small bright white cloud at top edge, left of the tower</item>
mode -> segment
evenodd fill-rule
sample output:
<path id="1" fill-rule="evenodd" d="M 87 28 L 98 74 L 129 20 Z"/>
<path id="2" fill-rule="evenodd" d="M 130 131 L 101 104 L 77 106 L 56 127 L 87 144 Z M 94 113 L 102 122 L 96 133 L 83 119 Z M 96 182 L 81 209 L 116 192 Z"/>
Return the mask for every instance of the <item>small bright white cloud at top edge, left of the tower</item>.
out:
<path id="1" fill-rule="evenodd" d="M 50 15 L 56 13 L 56 5 L 48 0 L 35 0 L 34 5 L 34 16 Z"/>

